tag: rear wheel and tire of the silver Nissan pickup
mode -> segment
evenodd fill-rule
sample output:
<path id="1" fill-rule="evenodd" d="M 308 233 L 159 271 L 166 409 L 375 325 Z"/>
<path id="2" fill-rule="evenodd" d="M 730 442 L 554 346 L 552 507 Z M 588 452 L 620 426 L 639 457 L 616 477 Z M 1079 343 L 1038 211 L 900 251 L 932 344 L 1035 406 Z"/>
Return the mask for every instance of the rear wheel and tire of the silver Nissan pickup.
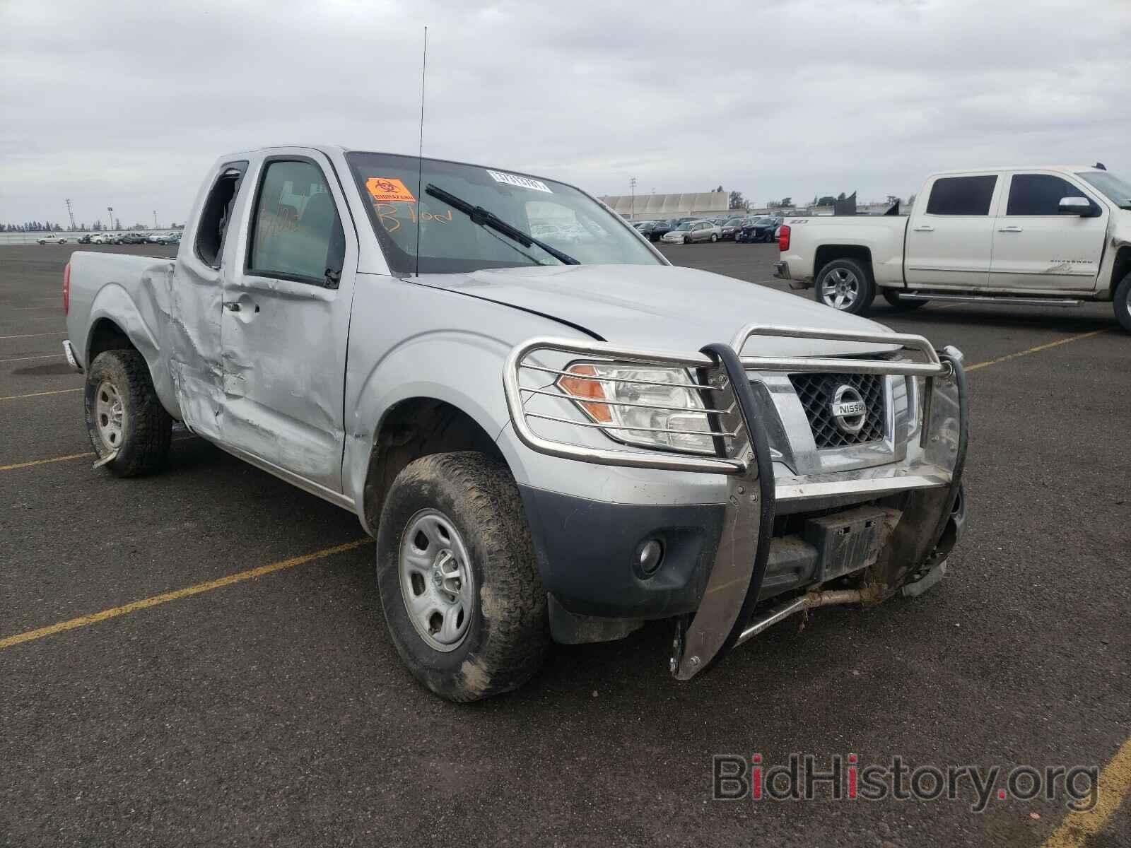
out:
<path id="1" fill-rule="evenodd" d="M 157 399 L 149 367 L 137 351 L 105 351 L 86 372 L 86 432 L 98 459 L 118 477 L 153 474 L 165 466 L 173 419 Z"/>

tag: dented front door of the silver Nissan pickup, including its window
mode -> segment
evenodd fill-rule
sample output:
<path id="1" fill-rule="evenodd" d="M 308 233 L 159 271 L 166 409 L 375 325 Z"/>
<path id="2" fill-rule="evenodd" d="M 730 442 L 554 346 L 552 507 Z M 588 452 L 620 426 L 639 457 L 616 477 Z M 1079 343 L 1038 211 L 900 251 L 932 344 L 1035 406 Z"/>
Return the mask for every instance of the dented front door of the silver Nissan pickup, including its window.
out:
<path id="1" fill-rule="evenodd" d="M 343 387 L 357 236 L 321 154 L 268 156 L 224 275 L 224 445 L 342 492 Z"/>

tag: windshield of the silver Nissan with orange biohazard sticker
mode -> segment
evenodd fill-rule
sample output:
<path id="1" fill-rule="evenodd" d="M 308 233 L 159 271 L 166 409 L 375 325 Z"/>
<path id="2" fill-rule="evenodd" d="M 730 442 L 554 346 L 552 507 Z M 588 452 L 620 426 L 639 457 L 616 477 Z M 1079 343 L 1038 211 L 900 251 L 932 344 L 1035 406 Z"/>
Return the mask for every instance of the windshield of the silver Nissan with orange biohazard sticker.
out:
<path id="1" fill-rule="evenodd" d="M 571 185 L 477 165 L 349 153 L 346 161 L 394 274 L 465 274 L 483 268 L 562 265 L 537 244 L 524 246 L 481 226 L 435 197 L 430 183 L 556 248 L 582 265 L 662 265 L 622 220 Z M 423 164 L 423 176 L 417 167 Z M 420 222 L 420 233 L 417 233 Z"/>

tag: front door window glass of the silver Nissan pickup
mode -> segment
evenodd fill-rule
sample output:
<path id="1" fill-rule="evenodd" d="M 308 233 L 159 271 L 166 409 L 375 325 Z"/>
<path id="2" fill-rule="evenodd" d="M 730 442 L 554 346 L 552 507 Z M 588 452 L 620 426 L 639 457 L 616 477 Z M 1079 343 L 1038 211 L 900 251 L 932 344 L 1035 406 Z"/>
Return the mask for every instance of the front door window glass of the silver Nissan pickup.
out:
<path id="1" fill-rule="evenodd" d="M 344 261 L 345 234 L 321 168 L 268 163 L 252 215 L 248 272 L 335 287 Z"/>

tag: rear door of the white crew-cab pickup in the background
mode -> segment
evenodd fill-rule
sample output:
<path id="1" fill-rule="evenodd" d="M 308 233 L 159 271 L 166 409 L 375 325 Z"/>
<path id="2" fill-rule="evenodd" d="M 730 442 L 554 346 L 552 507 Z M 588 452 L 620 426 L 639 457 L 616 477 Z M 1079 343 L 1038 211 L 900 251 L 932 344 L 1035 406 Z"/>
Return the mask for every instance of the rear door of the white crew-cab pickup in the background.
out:
<path id="1" fill-rule="evenodd" d="M 990 280 L 998 174 L 936 176 L 925 210 L 907 226 L 904 276 L 907 285 L 931 288 L 982 287 Z"/>

